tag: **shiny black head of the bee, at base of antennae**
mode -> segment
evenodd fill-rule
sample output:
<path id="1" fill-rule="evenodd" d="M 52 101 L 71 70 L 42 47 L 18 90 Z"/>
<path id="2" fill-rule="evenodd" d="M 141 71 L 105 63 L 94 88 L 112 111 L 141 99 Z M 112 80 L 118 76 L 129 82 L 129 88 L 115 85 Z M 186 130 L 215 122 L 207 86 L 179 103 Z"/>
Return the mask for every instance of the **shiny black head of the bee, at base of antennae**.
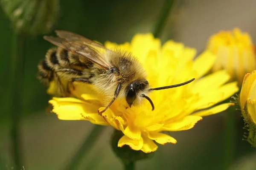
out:
<path id="1" fill-rule="evenodd" d="M 127 86 L 127 88 L 125 89 L 126 102 L 128 103 L 130 108 L 138 96 L 143 97 L 143 94 L 141 93 L 148 88 L 149 88 L 148 81 L 146 79 L 135 80 Z"/>

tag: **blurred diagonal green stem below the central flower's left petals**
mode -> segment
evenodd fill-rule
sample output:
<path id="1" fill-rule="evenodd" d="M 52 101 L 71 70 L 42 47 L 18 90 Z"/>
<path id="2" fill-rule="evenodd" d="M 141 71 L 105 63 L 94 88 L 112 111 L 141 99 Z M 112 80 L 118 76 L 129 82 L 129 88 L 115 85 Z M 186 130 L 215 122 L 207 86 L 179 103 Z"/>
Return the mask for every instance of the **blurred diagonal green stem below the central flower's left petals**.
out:
<path id="1" fill-rule="evenodd" d="M 77 150 L 77 153 L 73 156 L 69 164 L 67 164 L 65 170 L 78 169 L 81 159 L 83 159 L 90 152 L 91 148 L 93 147 L 93 144 L 95 144 L 103 129 L 104 126 L 95 125 L 93 130 L 90 132 L 89 136 L 86 136 L 84 143 Z"/>

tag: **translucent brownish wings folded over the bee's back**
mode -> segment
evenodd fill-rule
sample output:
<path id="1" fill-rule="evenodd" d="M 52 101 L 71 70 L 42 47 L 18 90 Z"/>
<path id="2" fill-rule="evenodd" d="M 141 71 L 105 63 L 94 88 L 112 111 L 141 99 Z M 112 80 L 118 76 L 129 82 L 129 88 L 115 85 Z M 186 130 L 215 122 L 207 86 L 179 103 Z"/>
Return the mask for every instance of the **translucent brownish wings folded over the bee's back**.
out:
<path id="1" fill-rule="evenodd" d="M 67 31 L 56 32 L 59 37 L 44 36 L 44 39 L 68 51 L 80 54 L 105 70 L 112 67 L 106 57 L 108 49 L 103 45 Z"/>

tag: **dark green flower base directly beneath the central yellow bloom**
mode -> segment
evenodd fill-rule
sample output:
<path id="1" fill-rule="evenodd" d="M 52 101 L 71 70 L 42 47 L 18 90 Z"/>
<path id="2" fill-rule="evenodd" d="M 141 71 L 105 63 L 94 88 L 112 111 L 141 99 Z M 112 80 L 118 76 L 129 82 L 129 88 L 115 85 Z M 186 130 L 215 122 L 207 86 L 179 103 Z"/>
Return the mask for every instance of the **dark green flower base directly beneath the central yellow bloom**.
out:
<path id="1" fill-rule="evenodd" d="M 116 156 L 119 157 L 124 164 L 130 164 L 132 162 L 151 158 L 152 156 L 154 156 L 154 152 L 144 153 L 141 150 L 132 150 L 127 145 L 123 147 L 118 147 L 118 141 L 123 135 L 124 134 L 122 133 L 122 131 L 115 130 L 115 132 L 112 134 L 111 146 Z"/>

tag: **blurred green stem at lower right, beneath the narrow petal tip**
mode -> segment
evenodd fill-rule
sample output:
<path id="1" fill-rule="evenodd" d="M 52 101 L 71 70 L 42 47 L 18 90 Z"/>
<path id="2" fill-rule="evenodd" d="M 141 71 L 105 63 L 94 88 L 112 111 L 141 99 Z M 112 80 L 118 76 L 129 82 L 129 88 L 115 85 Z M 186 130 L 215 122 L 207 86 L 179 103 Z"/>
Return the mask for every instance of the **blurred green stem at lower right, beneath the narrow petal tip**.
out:
<path id="1" fill-rule="evenodd" d="M 224 167 L 226 170 L 234 160 L 235 147 L 236 147 L 236 110 L 229 108 L 227 110 L 227 123 L 225 127 L 225 143 L 224 143 Z"/>

